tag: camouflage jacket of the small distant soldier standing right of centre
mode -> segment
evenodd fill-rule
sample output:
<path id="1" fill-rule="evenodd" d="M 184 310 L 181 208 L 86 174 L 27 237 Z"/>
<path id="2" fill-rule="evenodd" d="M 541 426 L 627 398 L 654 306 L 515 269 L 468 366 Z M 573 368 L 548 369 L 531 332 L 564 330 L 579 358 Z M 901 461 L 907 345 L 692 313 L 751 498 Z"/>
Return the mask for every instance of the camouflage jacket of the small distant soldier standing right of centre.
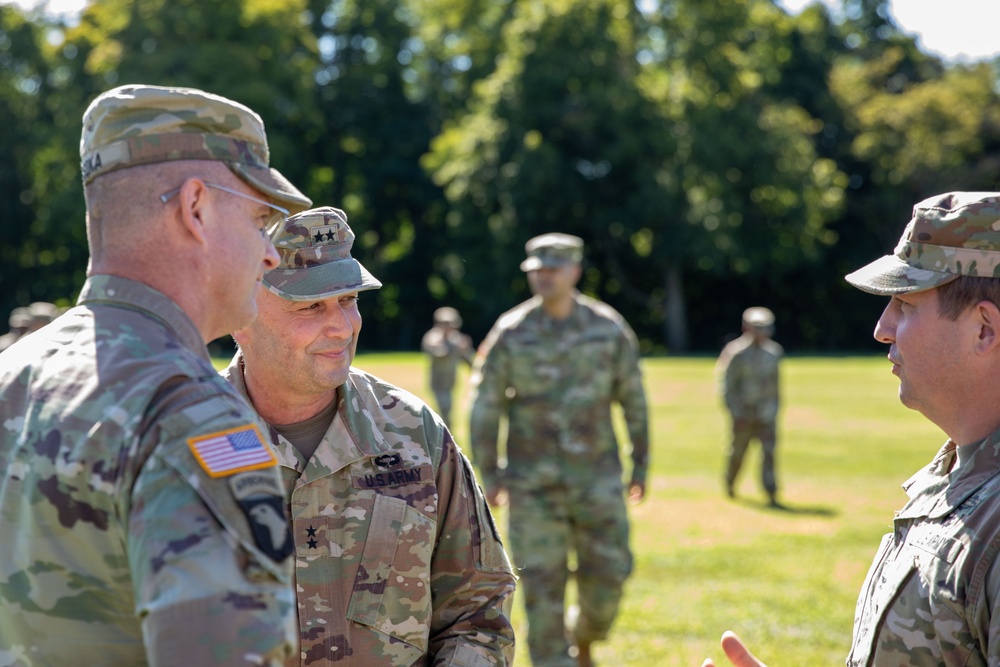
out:
<path id="1" fill-rule="evenodd" d="M 719 393 L 734 419 L 773 422 L 778 416 L 778 362 L 784 350 L 770 339 L 755 345 L 743 334 L 722 349 L 716 364 Z"/>

